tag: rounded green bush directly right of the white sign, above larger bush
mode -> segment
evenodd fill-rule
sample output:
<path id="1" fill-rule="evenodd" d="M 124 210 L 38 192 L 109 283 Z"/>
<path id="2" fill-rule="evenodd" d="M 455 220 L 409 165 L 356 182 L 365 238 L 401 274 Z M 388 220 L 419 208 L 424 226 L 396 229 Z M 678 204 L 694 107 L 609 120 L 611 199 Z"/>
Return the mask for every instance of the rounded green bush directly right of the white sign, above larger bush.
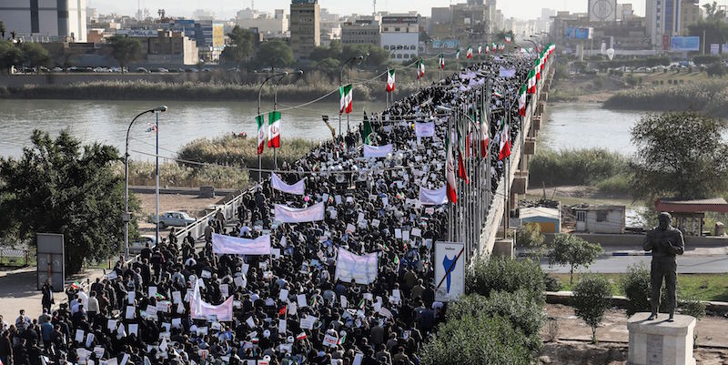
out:
<path id="1" fill-rule="evenodd" d="M 543 301 L 543 272 L 537 262 L 506 258 L 478 258 L 465 272 L 465 292 L 488 297 L 494 291 L 515 292 L 523 289 Z"/>

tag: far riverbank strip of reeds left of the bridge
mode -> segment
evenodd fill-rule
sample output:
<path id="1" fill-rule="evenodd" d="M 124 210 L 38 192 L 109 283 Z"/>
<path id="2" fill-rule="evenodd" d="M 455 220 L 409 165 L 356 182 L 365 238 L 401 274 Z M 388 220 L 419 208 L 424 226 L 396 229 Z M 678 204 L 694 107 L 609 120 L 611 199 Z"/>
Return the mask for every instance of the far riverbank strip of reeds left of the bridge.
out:
<path id="1" fill-rule="evenodd" d="M 385 96 L 378 83 L 355 86 L 355 99 L 379 101 Z M 66 100 L 182 100 L 182 101 L 257 101 L 259 85 L 203 82 L 96 81 L 68 85 L 0 86 L 0 98 Z M 300 83 L 278 86 L 278 100 L 293 102 L 338 102 L 339 86 L 329 83 Z M 417 91 L 416 84 L 397 86 L 398 95 Z M 262 97 L 273 98 L 273 87 L 264 87 Z M 397 97 L 397 96 L 395 96 Z"/>

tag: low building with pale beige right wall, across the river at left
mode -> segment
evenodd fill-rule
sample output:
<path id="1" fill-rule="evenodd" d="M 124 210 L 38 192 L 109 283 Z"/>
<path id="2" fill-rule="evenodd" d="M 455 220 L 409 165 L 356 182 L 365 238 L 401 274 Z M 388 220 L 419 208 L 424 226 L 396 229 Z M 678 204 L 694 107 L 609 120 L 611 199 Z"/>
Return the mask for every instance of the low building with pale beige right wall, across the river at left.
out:
<path id="1" fill-rule="evenodd" d="M 156 37 L 147 38 L 147 62 L 155 65 L 197 65 L 197 41 L 184 32 L 160 30 Z"/>

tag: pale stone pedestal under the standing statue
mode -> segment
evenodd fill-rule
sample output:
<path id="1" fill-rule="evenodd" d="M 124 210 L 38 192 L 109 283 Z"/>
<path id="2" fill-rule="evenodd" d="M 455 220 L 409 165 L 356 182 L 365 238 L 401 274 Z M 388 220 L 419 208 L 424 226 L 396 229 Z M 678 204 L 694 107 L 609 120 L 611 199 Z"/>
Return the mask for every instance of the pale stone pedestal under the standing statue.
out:
<path id="1" fill-rule="evenodd" d="M 693 330 L 695 319 L 660 313 L 657 319 L 647 320 L 650 313 L 636 313 L 627 320 L 630 331 L 628 363 L 632 365 L 694 365 Z"/>

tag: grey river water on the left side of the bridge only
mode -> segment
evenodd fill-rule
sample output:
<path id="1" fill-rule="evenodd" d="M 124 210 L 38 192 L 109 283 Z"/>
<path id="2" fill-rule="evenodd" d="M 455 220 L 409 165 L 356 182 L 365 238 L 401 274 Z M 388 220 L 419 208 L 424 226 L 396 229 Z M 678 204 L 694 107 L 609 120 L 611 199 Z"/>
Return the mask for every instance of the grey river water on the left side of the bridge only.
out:
<path id="1" fill-rule="evenodd" d="M 316 103 L 285 110 L 292 103 L 278 103 L 282 114 L 282 137 L 303 137 L 319 141 L 331 137 L 329 128 L 321 121 L 329 115 L 329 123 L 339 130 L 339 104 Z M 297 103 L 298 104 L 298 103 Z M 19 157 L 23 147 L 30 145 L 33 129 L 56 136 L 64 128 L 85 143 L 101 142 L 119 148 L 124 153 L 126 128 L 139 111 L 160 105 L 169 107 L 159 116 L 159 154 L 172 157 L 179 147 L 201 137 L 219 137 L 245 131 L 248 137 L 257 136 L 256 102 L 144 102 L 144 101 L 77 101 L 77 100 L 0 100 L 0 156 Z M 383 103 L 357 102 L 350 114 L 350 126 L 361 123 L 362 111 L 379 112 Z M 272 105 L 264 104 L 263 110 Z M 346 116 L 342 118 L 346 129 Z M 130 151 L 154 154 L 155 134 L 147 132 L 153 114 L 136 120 L 129 134 Z M 150 159 L 147 155 L 130 152 L 133 159 Z"/>

